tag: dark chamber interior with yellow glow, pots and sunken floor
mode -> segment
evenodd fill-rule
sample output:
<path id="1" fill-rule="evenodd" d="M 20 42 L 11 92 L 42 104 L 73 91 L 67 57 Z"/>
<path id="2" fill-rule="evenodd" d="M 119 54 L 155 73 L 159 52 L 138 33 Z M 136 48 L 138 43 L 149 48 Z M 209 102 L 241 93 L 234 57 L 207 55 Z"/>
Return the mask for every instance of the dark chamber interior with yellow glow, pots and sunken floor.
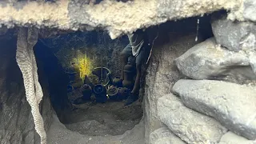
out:
<path id="1" fill-rule="evenodd" d="M 142 102 L 124 106 L 129 90 L 116 81 L 119 55 L 128 42 L 126 36 L 111 40 L 102 31 L 38 39 L 38 67 L 46 73 L 52 106 L 66 128 L 91 136 L 119 135 L 140 122 Z"/>

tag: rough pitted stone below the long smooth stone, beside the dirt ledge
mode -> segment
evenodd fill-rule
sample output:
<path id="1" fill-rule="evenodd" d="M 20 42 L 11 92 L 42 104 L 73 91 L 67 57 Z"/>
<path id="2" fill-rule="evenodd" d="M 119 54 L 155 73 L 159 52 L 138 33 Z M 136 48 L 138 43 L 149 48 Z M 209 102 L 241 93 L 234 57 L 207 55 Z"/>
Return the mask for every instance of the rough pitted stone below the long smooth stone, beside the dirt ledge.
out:
<path id="1" fill-rule="evenodd" d="M 174 94 L 158 98 L 158 117 L 187 143 L 216 143 L 226 133 L 214 118 L 190 110 Z"/>

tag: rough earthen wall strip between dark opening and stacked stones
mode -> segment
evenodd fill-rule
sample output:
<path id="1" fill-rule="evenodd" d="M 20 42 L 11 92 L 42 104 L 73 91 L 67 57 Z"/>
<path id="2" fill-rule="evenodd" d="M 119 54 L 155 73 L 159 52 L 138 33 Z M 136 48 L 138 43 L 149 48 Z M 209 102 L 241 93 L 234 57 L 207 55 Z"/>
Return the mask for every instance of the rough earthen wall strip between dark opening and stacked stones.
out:
<path id="1" fill-rule="evenodd" d="M 157 114 L 158 98 L 164 94 L 169 94 L 174 82 L 182 78 L 182 74 L 178 72 L 174 65 L 174 59 L 198 42 L 202 42 L 202 38 L 198 38 L 198 42 L 194 41 L 196 34 L 194 34 L 194 30 L 188 30 L 189 28 L 184 26 L 186 22 L 185 20 L 170 22 L 152 30 L 153 32 L 150 34 L 151 39 L 156 38 L 157 35 L 158 38 L 155 39 L 154 46 L 152 46 L 150 63 L 146 71 L 145 97 L 143 100 L 146 143 L 149 142 L 150 133 L 162 127 Z M 194 23 L 195 25 L 196 23 Z"/>

